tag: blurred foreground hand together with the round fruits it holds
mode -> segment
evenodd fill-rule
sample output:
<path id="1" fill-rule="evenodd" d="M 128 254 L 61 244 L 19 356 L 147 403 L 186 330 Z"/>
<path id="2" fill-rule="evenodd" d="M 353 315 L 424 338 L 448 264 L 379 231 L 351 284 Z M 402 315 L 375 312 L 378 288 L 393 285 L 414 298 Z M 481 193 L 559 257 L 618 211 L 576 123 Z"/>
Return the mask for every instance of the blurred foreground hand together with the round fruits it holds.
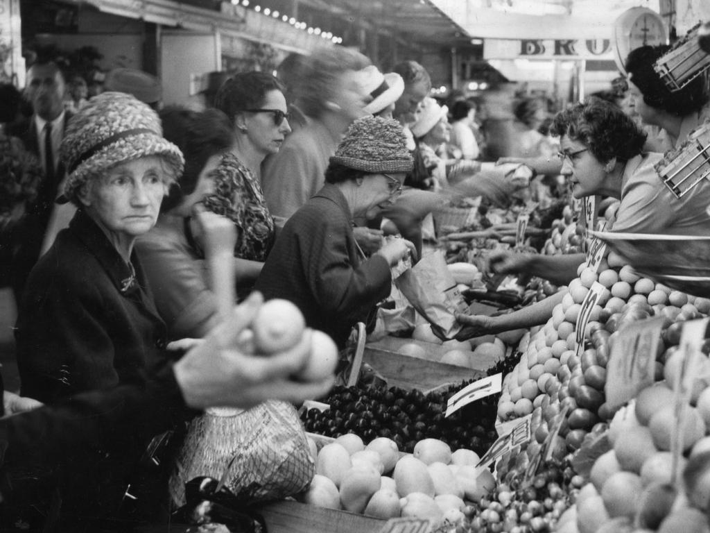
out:
<path id="1" fill-rule="evenodd" d="M 266 399 L 302 402 L 327 394 L 337 365 L 335 344 L 324 333 L 303 328 L 300 312 L 300 323 L 293 317 L 288 322 L 295 328 L 265 328 L 276 325 L 274 316 L 284 319 L 278 307 L 279 301 L 263 303 L 260 294 L 251 294 L 204 343 L 175 363 L 187 405 L 249 408 Z M 265 323 L 269 316 L 271 323 Z M 254 353 L 244 349 L 244 332 L 250 328 Z"/>

